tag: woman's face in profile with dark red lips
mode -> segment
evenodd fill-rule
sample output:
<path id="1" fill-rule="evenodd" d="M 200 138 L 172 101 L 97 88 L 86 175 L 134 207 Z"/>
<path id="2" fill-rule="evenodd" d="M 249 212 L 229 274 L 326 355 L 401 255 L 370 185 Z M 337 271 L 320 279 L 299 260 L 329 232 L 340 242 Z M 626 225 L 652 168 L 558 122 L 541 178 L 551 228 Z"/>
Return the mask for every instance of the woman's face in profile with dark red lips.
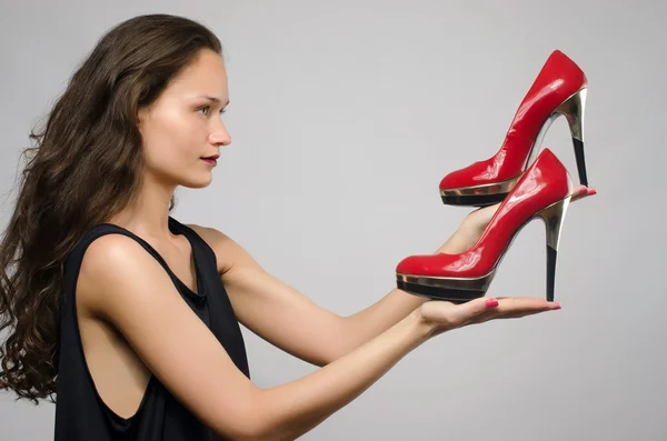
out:
<path id="1" fill-rule="evenodd" d="M 228 103 L 222 58 L 203 50 L 150 108 L 139 111 L 149 177 L 188 188 L 208 186 L 215 166 L 202 158 L 218 154 L 231 142 L 221 120 Z"/>

